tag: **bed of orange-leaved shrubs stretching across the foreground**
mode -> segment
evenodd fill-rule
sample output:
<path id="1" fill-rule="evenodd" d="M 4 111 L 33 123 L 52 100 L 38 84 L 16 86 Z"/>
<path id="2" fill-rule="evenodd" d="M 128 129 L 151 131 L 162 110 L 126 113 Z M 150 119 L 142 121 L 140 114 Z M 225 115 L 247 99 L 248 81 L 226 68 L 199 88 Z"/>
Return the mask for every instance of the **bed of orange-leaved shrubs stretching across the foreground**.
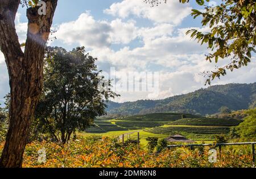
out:
<path id="1" fill-rule="evenodd" d="M 0 144 L 0 153 L 3 143 Z M 38 160 L 38 151 L 46 151 L 45 163 Z M 122 145 L 115 138 L 88 137 L 59 145 L 46 141 L 28 144 L 24 153 L 23 167 L 77 168 L 77 167 L 127 167 L 127 168 L 185 168 L 185 167 L 254 167 L 250 153 L 238 155 L 228 149 L 222 151 L 216 163 L 188 148 L 166 149 L 150 153 L 134 144 Z"/>

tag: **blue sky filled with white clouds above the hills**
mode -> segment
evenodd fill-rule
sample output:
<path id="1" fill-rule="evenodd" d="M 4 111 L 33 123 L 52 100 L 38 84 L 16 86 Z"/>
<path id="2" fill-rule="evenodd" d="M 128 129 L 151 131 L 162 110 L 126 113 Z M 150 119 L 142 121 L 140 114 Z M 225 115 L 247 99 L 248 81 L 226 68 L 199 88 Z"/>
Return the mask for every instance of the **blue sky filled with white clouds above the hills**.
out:
<path id="1" fill-rule="evenodd" d="M 218 1 L 210 1 L 216 5 Z M 97 66 L 106 74 L 115 70 L 115 80 L 128 72 L 158 74 L 158 93 L 153 91 L 118 90 L 116 102 L 139 99 L 163 99 L 206 88 L 199 73 L 214 70 L 214 63 L 205 61 L 209 50 L 185 32 L 191 28 L 208 32 L 200 26 L 200 18 L 193 19 L 191 9 L 201 9 L 194 1 L 181 4 L 168 0 L 166 4 L 150 7 L 143 0 L 60 0 L 53 19 L 48 45 L 72 50 L 84 46 L 97 57 Z M 20 7 L 15 20 L 20 43 L 26 40 L 26 9 Z M 56 37 L 56 40 L 53 39 Z M 212 85 L 255 82 L 255 55 L 249 66 L 228 72 Z M 229 60 L 220 59 L 219 66 Z M 9 77 L 3 54 L 0 52 L 0 103 L 9 93 Z M 118 88 L 115 88 L 118 89 Z M 156 89 L 154 89 L 156 90 Z"/>

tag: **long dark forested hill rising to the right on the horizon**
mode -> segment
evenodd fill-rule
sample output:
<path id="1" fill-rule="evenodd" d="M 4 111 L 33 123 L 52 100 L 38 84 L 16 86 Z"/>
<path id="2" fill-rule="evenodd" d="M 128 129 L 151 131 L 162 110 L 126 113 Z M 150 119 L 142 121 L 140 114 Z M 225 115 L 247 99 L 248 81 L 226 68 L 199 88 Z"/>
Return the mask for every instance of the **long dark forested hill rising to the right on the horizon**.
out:
<path id="1" fill-rule="evenodd" d="M 107 111 L 108 114 L 119 115 L 167 112 L 205 115 L 218 113 L 221 106 L 227 106 L 230 110 L 256 107 L 256 82 L 210 86 L 162 100 L 109 102 Z"/>

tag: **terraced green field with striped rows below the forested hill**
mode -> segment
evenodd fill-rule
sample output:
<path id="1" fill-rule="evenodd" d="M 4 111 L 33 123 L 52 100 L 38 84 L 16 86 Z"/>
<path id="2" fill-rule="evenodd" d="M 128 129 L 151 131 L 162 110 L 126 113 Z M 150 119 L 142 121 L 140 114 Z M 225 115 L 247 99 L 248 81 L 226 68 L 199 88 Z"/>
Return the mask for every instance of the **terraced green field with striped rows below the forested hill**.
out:
<path id="1" fill-rule="evenodd" d="M 142 144 L 146 144 L 148 136 L 162 139 L 175 134 L 195 141 L 212 141 L 214 135 L 227 135 L 230 127 L 237 126 L 240 122 L 242 121 L 237 119 L 204 118 L 191 114 L 145 114 L 115 119 L 98 118 L 94 121 L 94 126 L 88 128 L 82 135 L 121 136 L 140 131 Z M 130 138 L 136 137 L 137 133 L 130 135 Z"/>

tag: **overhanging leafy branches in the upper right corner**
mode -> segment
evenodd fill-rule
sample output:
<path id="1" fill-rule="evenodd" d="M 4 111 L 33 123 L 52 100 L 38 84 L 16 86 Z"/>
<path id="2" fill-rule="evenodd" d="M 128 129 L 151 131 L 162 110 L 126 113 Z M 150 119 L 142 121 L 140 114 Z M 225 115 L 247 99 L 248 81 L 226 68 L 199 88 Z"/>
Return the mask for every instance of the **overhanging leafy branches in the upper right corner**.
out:
<path id="1" fill-rule="evenodd" d="M 179 0 L 187 3 L 189 0 Z M 152 6 L 159 5 L 166 0 L 144 0 Z M 209 27 L 207 33 L 191 29 L 187 32 L 191 38 L 199 43 L 207 44 L 210 53 L 206 60 L 218 63 L 218 59 L 230 60 L 224 66 L 217 67 L 214 71 L 204 72 L 208 77 L 206 84 L 210 84 L 214 78 L 226 75 L 226 70 L 247 66 L 251 61 L 252 53 L 255 53 L 256 45 L 256 2 L 255 0 L 223 0 L 216 7 L 207 6 L 209 0 L 196 0 L 197 4 L 204 7 L 204 11 L 193 9 L 193 18 L 201 17 L 202 27 Z"/>

